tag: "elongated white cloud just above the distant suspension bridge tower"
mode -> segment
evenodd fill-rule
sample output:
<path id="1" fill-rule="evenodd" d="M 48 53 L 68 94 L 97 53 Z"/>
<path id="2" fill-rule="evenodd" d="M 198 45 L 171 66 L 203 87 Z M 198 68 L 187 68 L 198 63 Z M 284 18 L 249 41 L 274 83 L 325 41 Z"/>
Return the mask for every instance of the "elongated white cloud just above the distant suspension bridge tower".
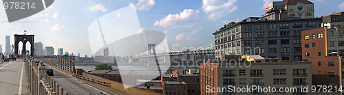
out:
<path id="1" fill-rule="evenodd" d="M 169 14 L 162 18 L 160 21 L 156 21 L 154 26 L 161 27 L 193 27 L 197 23 L 199 10 L 185 9 L 180 14 Z"/>

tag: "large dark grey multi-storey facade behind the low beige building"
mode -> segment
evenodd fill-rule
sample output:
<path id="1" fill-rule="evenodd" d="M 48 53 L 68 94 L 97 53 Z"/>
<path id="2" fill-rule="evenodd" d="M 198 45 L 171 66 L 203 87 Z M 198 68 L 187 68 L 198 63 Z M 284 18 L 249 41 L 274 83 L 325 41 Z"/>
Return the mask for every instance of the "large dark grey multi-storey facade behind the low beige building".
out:
<path id="1" fill-rule="evenodd" d="M 301 31 L 321 27 L 321 18 L 239 22 L 222 27 L 215 36 L 215 59 L 226 55 L 261 55 L 301 59 Z"/>

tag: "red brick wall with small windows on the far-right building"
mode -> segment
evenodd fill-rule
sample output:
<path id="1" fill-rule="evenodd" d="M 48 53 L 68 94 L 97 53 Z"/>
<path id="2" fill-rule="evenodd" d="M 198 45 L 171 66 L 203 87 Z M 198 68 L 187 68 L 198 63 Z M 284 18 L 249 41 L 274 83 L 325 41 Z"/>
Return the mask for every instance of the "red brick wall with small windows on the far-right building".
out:
<path id="1" fill-rule="evenodd" d="M 318 38 L 318 33 L 323 33 L 323 38 Z M 312 39 L 312 34 L 315 34 L 316 38 Z M 305 40 L 307 35 L 310 36 L 309 40 Z M 319 85 L 319 82 L 321 85 L 329 85 L 329 83 L 339 85 L 338 57 L 326 57 L 325 36 L 323 28 L 302 31 L 302 59 L 312 62 L 312 85 Z M 312 47 L 312 43 L 315 43 L 316 47 Z M 310 47 L 305 48 L 305 44 L 310 44 Z M 310 53 L 310 57 L 305 57 L 306 52 Z M 318 66 L 318 62 L 321 62 L 321 66 Z M 334 66 L 328 66 L 328 62 L 334 62 Z M 321 71 L 320 76 L 319 71 Z M 329 72 L 334 72 L 335 77 L 329 77 Z"/>

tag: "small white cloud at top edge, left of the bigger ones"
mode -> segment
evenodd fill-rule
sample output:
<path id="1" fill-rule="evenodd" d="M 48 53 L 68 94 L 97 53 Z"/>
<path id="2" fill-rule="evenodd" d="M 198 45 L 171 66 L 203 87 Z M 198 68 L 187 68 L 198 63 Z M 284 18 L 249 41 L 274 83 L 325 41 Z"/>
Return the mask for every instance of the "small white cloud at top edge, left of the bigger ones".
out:
<path id="1" fill-rule="evenodd" d="M 130 3 L 130 5 L 134 5 Z M 138 3 L 135 4 L 137 10 L 151 10 L 151 8 L 155 5 L 154 0 L 138 0 Z"/>

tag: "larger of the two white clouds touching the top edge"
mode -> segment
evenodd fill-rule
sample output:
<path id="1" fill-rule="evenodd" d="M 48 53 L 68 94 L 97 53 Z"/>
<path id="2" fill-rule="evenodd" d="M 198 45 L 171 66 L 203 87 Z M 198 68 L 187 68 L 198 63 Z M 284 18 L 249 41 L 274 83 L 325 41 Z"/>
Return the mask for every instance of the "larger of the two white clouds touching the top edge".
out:
<path id="1" fill-rule="evenodd" d="M 202 8 L 204 12 L 209 14 L 208 19 L 216 20 L 237 10 L 237 5 L 234 3 L 237 0 L 203 0 Z"/>

